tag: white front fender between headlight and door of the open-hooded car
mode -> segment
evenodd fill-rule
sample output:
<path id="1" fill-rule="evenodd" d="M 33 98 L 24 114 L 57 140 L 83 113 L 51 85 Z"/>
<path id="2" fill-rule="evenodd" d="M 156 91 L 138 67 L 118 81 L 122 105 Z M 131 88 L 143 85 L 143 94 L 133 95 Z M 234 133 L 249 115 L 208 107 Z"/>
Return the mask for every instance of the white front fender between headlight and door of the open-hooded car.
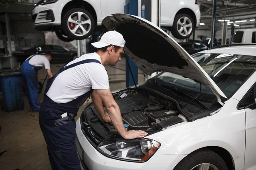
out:
<path id="1" fill-rule="evenodd" d="M 236 169 L 242 170 L 246 126 L 245 111 L 236 109 L 238 103 L 236 99 L 229 99 L 213 116 L 183 122 L 148 136 L 162 144 L 155 155 L 187 155 L 202 147 L 217 146 L 226 149 L 233 157 Z"/>

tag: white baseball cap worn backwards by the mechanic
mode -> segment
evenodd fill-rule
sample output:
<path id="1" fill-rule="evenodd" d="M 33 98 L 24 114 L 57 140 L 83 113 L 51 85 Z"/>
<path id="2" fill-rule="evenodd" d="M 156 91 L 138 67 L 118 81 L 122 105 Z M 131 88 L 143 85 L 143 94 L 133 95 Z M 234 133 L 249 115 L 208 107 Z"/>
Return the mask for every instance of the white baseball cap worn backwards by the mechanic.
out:
<path id="1" fill-rule="evenodd" d="M 125 46 L 125 40 L 122 34 L 116 31 L 108 31 L 102 35 L 98 42 L 93 42 L 91 45 L 95 48 L 103 48 L 108 45 L 116 45 L 119 47 Z"/>

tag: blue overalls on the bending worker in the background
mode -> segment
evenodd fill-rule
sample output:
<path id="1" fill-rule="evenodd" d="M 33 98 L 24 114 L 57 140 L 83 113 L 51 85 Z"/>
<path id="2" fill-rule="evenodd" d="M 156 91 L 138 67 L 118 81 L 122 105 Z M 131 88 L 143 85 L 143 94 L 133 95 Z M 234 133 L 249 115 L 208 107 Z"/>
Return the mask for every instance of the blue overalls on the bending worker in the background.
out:
<path id="1" fill-rule="evenodd" d="M 41 68 L 43 67 L 33 66 L 29 64 L 29 59 L 27 59 L 26 61 L 23 62 L 20 69 L 21 77 L 25 85 L 26 96 L 29 100 L 29 105 L 32 108 L 33 112 L 37 112 L 40 110 L 39 101 L 38 101 L 39 85 L 38 85 L 38 79 L 37 79 L 37 72 Z"/>

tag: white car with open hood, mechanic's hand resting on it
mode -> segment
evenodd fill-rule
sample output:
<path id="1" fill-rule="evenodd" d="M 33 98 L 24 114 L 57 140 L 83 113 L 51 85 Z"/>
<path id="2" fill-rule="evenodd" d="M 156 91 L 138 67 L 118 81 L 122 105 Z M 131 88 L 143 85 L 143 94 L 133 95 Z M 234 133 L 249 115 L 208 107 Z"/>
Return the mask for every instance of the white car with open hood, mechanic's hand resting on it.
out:
<path id="1" fill-rule="evenodd" d="M 124 51 L 146 75 L 137 87 L 113 91 L 128 130 L 125 140 L 93 103 L 76 122 L 81 167 L 89 170 L 255 170 L 256 45 L 193 55 L 147 20 L 113 14 Z"/>

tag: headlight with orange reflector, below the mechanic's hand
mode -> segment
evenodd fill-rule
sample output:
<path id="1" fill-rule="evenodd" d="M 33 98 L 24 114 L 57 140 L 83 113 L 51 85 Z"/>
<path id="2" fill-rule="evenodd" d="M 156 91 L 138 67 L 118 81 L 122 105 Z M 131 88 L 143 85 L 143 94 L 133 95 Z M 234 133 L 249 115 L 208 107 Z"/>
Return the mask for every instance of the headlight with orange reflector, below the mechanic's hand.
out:
<path id="1" fill-rule="evenodd" d="M 160 145 L 152 139 L 107 141 L 101 142 L 97 150 L 113 159 L 145 162 L 154 155 Z"/>

